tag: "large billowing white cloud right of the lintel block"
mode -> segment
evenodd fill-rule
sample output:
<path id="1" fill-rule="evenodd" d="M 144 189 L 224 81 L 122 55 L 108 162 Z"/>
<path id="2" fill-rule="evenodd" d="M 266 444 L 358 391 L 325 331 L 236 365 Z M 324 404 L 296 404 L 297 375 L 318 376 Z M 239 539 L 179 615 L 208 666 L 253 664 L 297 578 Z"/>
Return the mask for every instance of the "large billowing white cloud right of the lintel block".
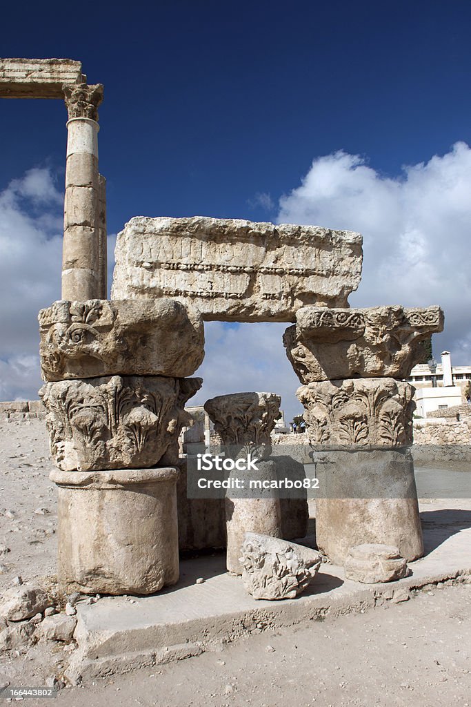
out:
<path id="1" fill-rule="evenodd" d="M 280 199 L 277 220 L 363 233 L 362 283 L 350 304 L 439 304 L 446 325 L 434 337 L 435 355 L 448 349 L 453 363 L 470 364 L 470 194 L 463 142 L 395 179 L 337 152 L 314 160 L 302 185 Z"/>

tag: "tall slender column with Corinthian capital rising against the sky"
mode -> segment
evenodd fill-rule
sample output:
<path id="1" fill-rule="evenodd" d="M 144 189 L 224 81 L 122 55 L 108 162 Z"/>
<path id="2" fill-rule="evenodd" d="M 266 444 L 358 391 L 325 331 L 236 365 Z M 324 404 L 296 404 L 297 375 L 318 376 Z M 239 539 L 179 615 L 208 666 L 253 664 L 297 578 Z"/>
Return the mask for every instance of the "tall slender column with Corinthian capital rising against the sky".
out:
<path id="1" fill-rule="evenodd" d="M 68 110 L 62 299 L 105 299 L 104 180 L 98 173 L 101 83 L 64 86 Z"/>

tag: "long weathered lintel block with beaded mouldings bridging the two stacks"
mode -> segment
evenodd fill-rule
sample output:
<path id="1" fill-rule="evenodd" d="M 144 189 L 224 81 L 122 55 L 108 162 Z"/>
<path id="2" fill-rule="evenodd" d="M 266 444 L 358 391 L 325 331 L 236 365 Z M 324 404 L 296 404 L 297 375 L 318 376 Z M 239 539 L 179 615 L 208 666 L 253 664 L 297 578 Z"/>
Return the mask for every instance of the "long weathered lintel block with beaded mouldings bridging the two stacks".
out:
<path id="1" fill-rule="evenodd" d="M 168 296 L 205 320 L 293 322 L 306 304 L 345 307 L 362 272 L 362 236 L 237 219 L 145 218 L 116 245 L 112 297 Z"/>

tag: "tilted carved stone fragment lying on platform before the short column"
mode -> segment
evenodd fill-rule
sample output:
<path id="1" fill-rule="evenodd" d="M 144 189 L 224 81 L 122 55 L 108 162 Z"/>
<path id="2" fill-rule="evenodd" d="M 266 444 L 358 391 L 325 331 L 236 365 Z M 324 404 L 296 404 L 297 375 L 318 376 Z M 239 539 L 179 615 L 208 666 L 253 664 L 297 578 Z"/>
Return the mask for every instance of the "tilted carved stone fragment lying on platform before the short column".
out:
<path id="1" fill-rule="evenodd" d="M 321 554 L 302 545 L 246 533 L 242 580 L 254 599 L 294 599 L 312 582 Z"/>

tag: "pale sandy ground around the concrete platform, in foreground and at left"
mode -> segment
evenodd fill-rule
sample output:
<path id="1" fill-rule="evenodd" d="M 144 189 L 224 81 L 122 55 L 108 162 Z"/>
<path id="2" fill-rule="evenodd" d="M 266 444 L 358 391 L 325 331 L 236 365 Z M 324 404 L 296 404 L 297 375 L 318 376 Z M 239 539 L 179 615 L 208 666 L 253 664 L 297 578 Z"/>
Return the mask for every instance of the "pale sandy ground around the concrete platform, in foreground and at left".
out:
<path id="1" fill-rule="evenodd" d="M 44 421 L 0 422 L 0 592 L 54 580 L 56 492 Z M 470 501 L 462 502 L 470 507 Z M 429 506 L 430 501 L 426 504 Z M 59 692 L 58 704 L 413 707 L 471 706 L 471 585 L 419 592 L 403 604 L 280 632 Z M 44 686 L 70 648 L 39 643 L 0 654 L 0 689 Z M 0 700 L 5 695 L 0 694 Z M 28 704 L 44 706 L 44 699 Z"/>

